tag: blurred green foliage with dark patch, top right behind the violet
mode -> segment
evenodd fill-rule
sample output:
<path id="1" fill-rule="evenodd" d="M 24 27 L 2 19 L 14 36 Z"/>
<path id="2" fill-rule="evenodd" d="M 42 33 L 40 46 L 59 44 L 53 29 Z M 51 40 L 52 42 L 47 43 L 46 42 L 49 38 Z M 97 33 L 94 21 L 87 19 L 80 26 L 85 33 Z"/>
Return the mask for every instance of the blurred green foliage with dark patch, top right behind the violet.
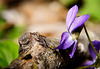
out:
<path id="1" fill-rule="evenodd" d="M 64 6 L 70 8 L 77 4 L 79 13 L 90 14 L 92 21 L 100 22 L 100 0 L 59 0 Z"/>

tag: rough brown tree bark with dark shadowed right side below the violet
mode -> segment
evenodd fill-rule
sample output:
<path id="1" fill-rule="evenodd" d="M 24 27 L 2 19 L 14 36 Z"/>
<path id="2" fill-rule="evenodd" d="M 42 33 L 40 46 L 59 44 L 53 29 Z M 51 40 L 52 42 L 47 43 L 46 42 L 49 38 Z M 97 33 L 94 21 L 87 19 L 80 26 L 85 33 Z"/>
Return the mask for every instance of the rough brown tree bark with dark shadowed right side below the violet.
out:
<path id="1" fill-rule="evenodd" d="M 74 69 L 89 58 L 77 48 L 74 57 L 69 57 L 70 48 L 55 50 L 60 39 L 50 39 L 39 33 L 24 33 L 19 37 L 19 57 L 5 69 Z"/>

